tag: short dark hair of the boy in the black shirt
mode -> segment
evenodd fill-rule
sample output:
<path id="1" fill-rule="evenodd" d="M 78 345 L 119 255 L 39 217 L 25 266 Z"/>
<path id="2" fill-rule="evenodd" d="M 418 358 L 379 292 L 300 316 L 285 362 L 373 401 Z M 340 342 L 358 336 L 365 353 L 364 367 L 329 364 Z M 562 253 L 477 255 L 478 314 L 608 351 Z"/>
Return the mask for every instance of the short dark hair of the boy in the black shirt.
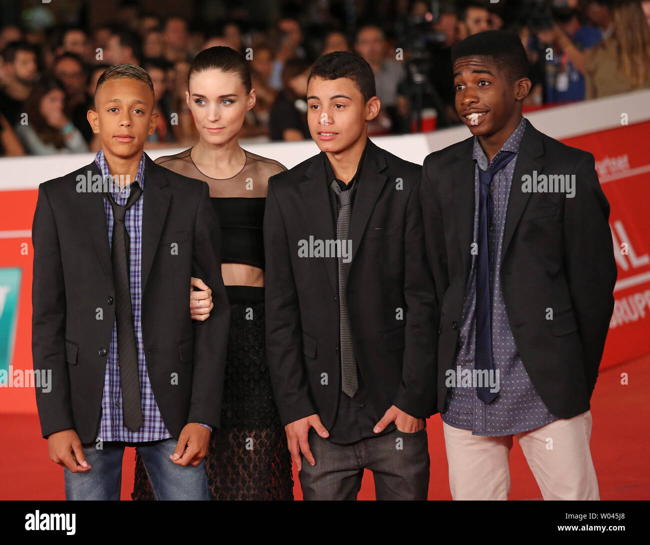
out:
<path id="1" fill-rule="evenodd" d="M 321 55 L 311 67 L 307 84 L 313 77 L 328 80 L 339 79 L 339 77 L 351 79 L 361 92 L 364 104 L 377 94 L 372 68 L 365 58 L 357 53 L 333 51 Z"/>

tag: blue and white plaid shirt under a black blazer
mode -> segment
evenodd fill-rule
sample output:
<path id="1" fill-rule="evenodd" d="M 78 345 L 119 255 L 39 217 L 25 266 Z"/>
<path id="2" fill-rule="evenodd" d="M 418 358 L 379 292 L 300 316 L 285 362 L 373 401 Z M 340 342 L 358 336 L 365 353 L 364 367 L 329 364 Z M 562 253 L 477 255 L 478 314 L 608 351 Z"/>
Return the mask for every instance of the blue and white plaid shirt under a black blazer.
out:
<path id="1" fill-rule="evenodd" d="M 95 162 L 103 178 L 109 176 L 109 166 L 100 149 L 95 156 Z M 99 423 L 98 439 L 102 441 L 123 441 L 140 443 L 157 441 L 172 437 L 162 422 L 149 374 L 144 358 L 144 345 L 142 344 L 142 209 L 144 205 L 144 166 L 146 158 L 144 152 L 140 158 L 140 166 L 135 180 L 142 195 L 126 211 L 125 226 L 131 244 L 129 245 L 129 279 L 131 283 L 131 309 L 133 309 L 133 326 L 135 329 L 136 344 L 138 347 L 138 370 L 140 371 L 140 399 L 142 400 L 142 425 L 137 431 L 131 431 L 123 422 L 122 415 L 122 387 L 120 385 L 120 368 L 118 367 L 118 328 L 113 320 L 113 329 L 110 335 L 110 346 L 106 372 L 104 375 L 104 390 L 101 399 L 101 422 Z M 112 195 L 118 205 L 125 206 L 129 198 L 130 186 L 120 190 L 117 183 L 111 187 Z M 104 211 L 106 213 L 106 226 L 109 231 L 109 247 L 112 247 L 113 209 L 109 200 L 104 197 Z M 205 425 L 205 424 L 201 424 Z M 212 428 L 205 425 L 208 429 Z"/>

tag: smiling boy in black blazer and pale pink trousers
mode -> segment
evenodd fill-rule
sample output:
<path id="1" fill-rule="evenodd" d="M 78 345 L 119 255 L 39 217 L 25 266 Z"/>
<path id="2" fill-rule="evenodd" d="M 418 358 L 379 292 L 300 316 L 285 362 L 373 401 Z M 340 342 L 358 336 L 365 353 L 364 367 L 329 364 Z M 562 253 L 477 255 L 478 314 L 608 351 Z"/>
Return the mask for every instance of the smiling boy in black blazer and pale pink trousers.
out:
<path id="1" fill-rule="evenodd" d="M 452 496 L 506 500 L 516 437 L 545 499 L 597 500 L 589 409 L 616 264 L 593 156 L 522 117 L 516 34 L 470 36 L 452 60 L 474 136 L 429 155 L 421 186 Z"/>

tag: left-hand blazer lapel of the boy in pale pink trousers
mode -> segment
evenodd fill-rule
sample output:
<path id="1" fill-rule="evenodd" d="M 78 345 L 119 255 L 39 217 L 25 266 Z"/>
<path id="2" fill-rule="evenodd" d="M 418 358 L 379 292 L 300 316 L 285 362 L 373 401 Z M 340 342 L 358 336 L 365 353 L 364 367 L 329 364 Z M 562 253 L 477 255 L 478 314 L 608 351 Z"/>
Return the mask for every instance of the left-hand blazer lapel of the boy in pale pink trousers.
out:
<path id="1" fill-rule="evenodd" d="M 456 222 L 456 233 L 458 244 L 460 244 L 460 255 L 465 274 L 465 285 L 469 279 L 471 270 L 471 244 L 474 236 L 474 203 L 476 199 L 474 191 L 474 137 L 467 138 L 456 150 L 456 164 L 451 171 L 451 193 L 454 206 L 454 221 Z M 469 158 L 469 160 L 468 160 Z"/>

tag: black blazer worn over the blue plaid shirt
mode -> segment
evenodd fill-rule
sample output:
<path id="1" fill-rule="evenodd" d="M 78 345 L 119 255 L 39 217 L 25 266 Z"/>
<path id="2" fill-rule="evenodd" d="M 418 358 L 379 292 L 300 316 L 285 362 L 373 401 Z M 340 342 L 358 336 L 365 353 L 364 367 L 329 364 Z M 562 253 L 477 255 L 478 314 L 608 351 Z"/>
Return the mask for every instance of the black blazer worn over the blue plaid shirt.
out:
<path id="1" fill-rule="evenodd" d="M 32 355 L 35 370 L 52 371 L 51 392 L 36 388 L 41 429 L 43 437 L 74 429 L 82 442 L 97 437 L 115 317 L 103 196 L 76 190 L 88 171 L 100 175 L 93 161 L 40 184 L 32 225 Z M 147 156 L 142 214 L 142 341 L 162 420 L 178 438 L 188 422 L 220 420 L 229 306 L 219 225 L 205 182 Z M 190 318 L 192 275 L 213 290 L 204 322 Z"/>

